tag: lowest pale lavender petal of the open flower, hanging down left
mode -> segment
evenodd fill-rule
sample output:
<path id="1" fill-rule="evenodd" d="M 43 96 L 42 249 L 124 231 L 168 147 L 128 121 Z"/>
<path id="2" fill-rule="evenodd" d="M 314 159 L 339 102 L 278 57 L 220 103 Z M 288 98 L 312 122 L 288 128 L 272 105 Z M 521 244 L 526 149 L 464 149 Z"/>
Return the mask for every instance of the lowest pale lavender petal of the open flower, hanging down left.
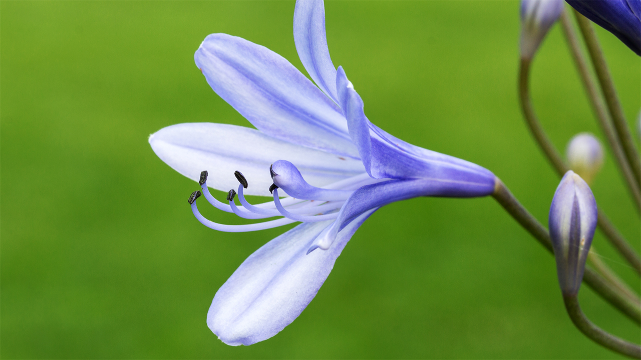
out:
<path id="1" fill-rule="evenodd" d="M 331 221 L 304 223 L 251 254 L 213 297 L 207 325 L 228 345 L 251 345 L 283 330 L 312 301 L 371 209 L 338 233 L 328 251 L 306 255 Z"/>

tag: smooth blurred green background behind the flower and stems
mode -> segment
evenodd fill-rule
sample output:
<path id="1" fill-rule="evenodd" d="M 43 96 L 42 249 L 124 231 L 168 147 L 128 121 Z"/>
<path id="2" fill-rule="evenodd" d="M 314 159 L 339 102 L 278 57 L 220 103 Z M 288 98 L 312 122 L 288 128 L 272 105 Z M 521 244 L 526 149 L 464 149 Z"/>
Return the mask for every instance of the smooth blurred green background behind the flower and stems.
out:
<path id="1" fill-rule="evenodd" d="M 217 340 L 205 323 L 213 295 L 285 229 L 199 224 L 187 204 L 197 184 L 160 161 L 147 136 L 180 122 L 250 126 L 207 85 L 194 51 L 229 33 L 304 72 L 293 13 L 290 1 L 0 2 L 0 356 L 616 357 L 573 327 L 553 258 L 491 198 L 380 209 L 294 323 L 250 347 Z M 547 224 L 559 179 L 520 116 L 518 13 L 518 1 L 332 1 L 328 43 L 372 122 L 487 167 Z M 632 124 L 640 60 L 597 33 Z M 532 76 L 560 149 L 581 131 L 603 139 L 558 26 Z M 609 153 L 592 188 L 638 249 L 638 213 Z M 601 234 L 594 245 L 638 291 Z M 640 341 L 637 325 L 587 287 L 580 298 L 595 323 Z"/>

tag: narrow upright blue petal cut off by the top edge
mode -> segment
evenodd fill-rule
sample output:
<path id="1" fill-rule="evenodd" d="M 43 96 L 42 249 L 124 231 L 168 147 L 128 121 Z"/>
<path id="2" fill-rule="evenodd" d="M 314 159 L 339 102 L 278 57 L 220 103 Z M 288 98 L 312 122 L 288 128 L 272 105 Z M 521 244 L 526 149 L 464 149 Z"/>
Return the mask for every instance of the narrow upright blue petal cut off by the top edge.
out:
<path id="1" fill-rule="evenodd" d="M 322 0 L 298 0 L 294 10 L 296 51 L 316 85 L 338 104 L 336 68 L 331 62 L 325 34 L 325 6 Z"/>

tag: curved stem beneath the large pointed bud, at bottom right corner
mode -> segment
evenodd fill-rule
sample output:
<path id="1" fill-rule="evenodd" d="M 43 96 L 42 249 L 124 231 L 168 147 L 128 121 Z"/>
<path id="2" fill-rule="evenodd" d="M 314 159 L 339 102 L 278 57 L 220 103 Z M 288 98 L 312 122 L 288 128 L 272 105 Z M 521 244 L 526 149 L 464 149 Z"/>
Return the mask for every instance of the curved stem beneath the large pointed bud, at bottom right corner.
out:
<path id="1" fill-rule="evenodd" d="M 588 320 L 583 311 L 581 311 L 576 295 L 563 295 L 563 302 L 565 302 L 565 309 L 567 309 L 570 319 L 585 336 L 619 354 L 641 359 L 641 347 L 639 345 L 617 338 Z"/>

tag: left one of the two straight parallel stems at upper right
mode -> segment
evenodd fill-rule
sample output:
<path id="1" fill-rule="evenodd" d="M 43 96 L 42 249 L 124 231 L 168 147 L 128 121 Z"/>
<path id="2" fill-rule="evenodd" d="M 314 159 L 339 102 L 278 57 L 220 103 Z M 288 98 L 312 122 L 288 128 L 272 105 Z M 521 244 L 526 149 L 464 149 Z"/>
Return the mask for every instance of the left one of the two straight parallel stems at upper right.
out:
<path id="1" fill-rule="evenodd" d="M 610 145 L 610 149 L 612 149 L 612 154 L 617 161 L 617 165 L 619 165 L 621 175 L 624 177 L 626 184 L 628 184 L 630 193 L 632 194 L 634 199 L 638 199 L 639 184 L 635 180 L 635 176 L 632 173 L 630 165 L 628 164 L 626 155 L 624 154 L 621 144 L 619 143 L 619 138 L 617 137 L 615 129 L 612 126 L 612 119 L 610 119 L 610 115 L 608 115 L 605 110 L 603 99 L 601 99 L 601 95 L 599 95 L 599 92 L 594 84 L 594 79 L 592 79 L 590 70 L 588 69 L 585 57 L 583 56 L 583 51 L 581 51 L 581 45 L 579 44 L 579 40 L 576 37 L 574 28 L 572 27 L 572 22 L 565 10 L 563 10 L 563 12 L 561 13 L 561 25 L 563 34 L 565 35 L 565 38 L 567 40 L 568 47 L 570 48 L 570 53 L 572 53 L 572 58 L 574 58 L 574 64 L 579 70 L 579 76 L 581 76 L 583 87 L 585 88 L 585 92 L 588 95 L 588 99 L 590 99 L 590 104 L 592 104 L 592 111 L 594 111 L 594 115 L 596 115 L 597 120 L 599 120 L 601 131 L 603 131 L 606 139 L 608 140 L 608 145 Z M 639 208 L 637 207 L 637 209 Z"/>

